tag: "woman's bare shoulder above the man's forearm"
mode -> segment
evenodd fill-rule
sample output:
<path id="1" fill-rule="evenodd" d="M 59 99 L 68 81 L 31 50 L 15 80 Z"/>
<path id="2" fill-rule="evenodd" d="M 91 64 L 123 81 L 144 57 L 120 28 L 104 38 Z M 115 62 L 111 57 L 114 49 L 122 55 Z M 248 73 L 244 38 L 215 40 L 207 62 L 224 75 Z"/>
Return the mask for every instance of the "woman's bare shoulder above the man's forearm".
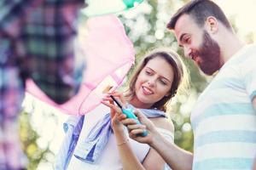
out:
<path id="1" fill-rule="evenodd" d="M 154 117 L 149 119 L 156 127 L 163 128 L 174 133 L 174 125 L 171 119 L 167 119 L 166 117 Z"/>

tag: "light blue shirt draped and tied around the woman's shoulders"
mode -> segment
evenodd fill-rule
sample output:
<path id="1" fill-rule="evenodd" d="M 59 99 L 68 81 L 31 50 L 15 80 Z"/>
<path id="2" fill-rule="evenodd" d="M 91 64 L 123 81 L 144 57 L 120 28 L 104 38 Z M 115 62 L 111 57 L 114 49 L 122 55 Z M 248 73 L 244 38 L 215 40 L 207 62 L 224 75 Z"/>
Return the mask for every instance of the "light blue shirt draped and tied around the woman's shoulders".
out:
<path id="1" fill-rule="evenodd" d="M 127 107 L 134 109 L 132 105 L 128 105 Z M 143 112 L 148 118 L 166 117 L 164 111 L 157 109 L 139 109 L 139 111 Z M 77 145 L 83 124 L 84 116 L 71 116 L 64 123 L 64 131 L 67 135 L 56 157 L 55 169 L 66 169 L 72 155 L 90 163 L 96 163 L 102 155 L 102 150 L 108 144 L 109 136 L 113 133 L 110 114 L 108 113 L 101 121 L 97 122 L 96 126 L 91 129 L 88 137 L 82 139 L 81 141 L 83 142 Z"/>

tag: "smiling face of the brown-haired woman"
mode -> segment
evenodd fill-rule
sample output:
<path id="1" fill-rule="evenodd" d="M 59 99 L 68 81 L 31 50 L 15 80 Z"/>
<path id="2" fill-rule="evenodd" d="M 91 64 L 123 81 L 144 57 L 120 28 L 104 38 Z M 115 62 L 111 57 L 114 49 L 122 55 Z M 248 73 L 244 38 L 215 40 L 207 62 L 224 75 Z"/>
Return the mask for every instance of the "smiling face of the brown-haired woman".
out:
<path id="1" fill-rule="evenodd" d="M 168 95 L 172 88 L 173 70 L 166 59 L 150 59 L 139 73 L 135 83 L 136 96 L 133 101 L 137 107 L 150 108 L 154 103 Z"/>

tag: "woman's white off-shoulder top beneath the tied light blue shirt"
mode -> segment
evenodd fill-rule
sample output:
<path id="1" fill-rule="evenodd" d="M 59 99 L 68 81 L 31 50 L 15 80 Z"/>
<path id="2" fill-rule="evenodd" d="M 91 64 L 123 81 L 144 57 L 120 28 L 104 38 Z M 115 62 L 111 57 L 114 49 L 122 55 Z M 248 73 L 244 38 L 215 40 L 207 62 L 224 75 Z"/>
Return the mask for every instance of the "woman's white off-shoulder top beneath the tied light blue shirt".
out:
<path id="1" fill-rule="evenodd" d="M 102 113 L 102 108 L 100 109 Z M 109 109 L 108 109 L 109 110 Z M 90 118 L 93 116 L 94 118 Z M 95 123 L 102 118 L 102 116 L 96 116 L 95 114 L 88 114 L 84 117 L 84 126 L 80 135 L 87 136 L 90 132 L 91 127 L 94 127 Z M 90 122 L 88 122 L 90 120 Z M 157 128 L 160 133 L 162 133 L 166 139 L 169 141 L 174 140 L 173 133 L 167 131 L 163 128 Z M 125 133 L 128 136 L 128 131 L 125 128 Z M 81 143 L 81 139 L 79 138 L 78 144 Z M 150 149 L 148 144 L 140 144 L 133 139 L 129 139 L 129 143 L 131 144 L 131 148 L 135 155 L 137 156 L 138 160 L 143 162 L 144 158 L 147 156 L 148 151 Z M 99 160 L 92 164 L 89 162 L 81 161 L 77 157 L 72 156 L 71 161 L 67 167 L 68 170 L 121 170 L 123 169 L 122 163 L 119 158 L 119 151 L 116 145 L 114 134 L 112 133 L 109 137 L 108 144 L 106 145 L 105 149 L 102 151 L 102 156 Z"/>

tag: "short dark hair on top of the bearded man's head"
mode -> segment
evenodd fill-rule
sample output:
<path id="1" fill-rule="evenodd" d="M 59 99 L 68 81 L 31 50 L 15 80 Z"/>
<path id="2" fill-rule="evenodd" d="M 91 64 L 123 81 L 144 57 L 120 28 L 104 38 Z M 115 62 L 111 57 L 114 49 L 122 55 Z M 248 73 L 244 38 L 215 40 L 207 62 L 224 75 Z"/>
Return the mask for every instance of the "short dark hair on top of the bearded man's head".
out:
<path id="1" fill-rule="evenodd" d="M 211 0 L 192 0 L 177 10 L 167 25 L 167 28 L 173 30 L 179 17 L 183 14 L 189 14 L 198 26 L 204 26 L 207 17 L 213 16 L 219 20 L 224 26 L 231 30 L 230 22 L 225 16 L 223 10 Z"/>

